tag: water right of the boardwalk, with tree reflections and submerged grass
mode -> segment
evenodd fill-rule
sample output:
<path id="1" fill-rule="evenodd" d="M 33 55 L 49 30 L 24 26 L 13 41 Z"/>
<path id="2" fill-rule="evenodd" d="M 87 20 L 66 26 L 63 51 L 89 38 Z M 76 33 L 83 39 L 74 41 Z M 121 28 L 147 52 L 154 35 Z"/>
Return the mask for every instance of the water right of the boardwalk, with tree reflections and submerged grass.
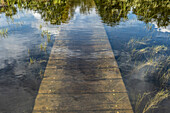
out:
<path id="1" fill-rule="evenodd" d="M 135 112 L 168 112 L 169 2 L 95 2 L 98 13 L 106 24 L 105 29 Z M 165 100 L 161 102 L 161 99 Z M 159 109 L 155 110 L 153 106 L 159 106 Z"/>

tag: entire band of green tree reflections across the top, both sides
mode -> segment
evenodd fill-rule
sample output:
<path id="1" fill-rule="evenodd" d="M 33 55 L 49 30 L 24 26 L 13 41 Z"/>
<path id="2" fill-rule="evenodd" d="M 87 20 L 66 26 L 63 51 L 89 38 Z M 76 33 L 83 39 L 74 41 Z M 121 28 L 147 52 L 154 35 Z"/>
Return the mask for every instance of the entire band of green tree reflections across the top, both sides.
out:
<path id="1" fill-rule="evenodd" d="M 88 14 L 96 5 L 104 23 L 110 26 L 118 25 L 128 20 L 132 10 L 138 20 L 145 23 L 156 22 L 158 27 L 166 27 L 169 23 L 169 0 L 1 0 L 0 13 L 11 17 L 18 8 L 29 9 L 41 14 L 45 21 L 60 25 L 67 23 L 73 16 L 76 7 L 80 13 Z M 3 7 L 4 6 L 4 7 Z"/>

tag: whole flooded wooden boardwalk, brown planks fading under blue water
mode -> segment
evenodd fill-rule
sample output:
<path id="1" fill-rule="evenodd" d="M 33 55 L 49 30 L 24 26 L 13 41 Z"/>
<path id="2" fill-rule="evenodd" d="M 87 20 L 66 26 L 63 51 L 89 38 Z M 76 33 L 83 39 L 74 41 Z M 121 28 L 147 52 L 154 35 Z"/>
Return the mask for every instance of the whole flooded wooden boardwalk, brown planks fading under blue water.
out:
<path id="1" fill-rule="evenodd" d="M 33 113 L 133 113 L 97 14 L 76 16 L 61 29 Z"/>

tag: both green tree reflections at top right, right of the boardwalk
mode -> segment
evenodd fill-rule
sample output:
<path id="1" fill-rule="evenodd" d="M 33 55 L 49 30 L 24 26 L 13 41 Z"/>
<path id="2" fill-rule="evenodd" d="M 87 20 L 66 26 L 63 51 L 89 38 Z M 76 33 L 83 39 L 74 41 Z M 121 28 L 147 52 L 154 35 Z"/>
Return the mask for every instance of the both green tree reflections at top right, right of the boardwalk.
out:
<path id="1" fill-rule="evenodd" d="M 158 27 L 169 23 L 169 0 L 95 0 L 95 3 L 103 22 L 111 26 L 128 19 L 131 8 L 145 23 L 156 22 Z"/>

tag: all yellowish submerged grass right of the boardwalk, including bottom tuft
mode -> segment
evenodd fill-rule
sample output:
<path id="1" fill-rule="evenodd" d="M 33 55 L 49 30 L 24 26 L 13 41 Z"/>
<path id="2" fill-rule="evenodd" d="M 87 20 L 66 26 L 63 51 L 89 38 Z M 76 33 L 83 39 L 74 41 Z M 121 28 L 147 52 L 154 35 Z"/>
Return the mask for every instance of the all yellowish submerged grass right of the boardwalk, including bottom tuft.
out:
<path id="1" fill-rule="evenodd" d="M 152 26 L 148 26 L 152 29 Z M 168 47 L 165 45 L 153 45 L 152 37 L 142 39 L 132 38 L 127 43 L 130 51 L 129 62 L 135 62 L 134 68 L 144 72 L 146 80 L 150 80 L 158 87 L 159 91 L 143 93 L 135 102 L 135 113 L 150 113 L 159 107 L 159 104 L 169 97 L 170 57 Z"/>

